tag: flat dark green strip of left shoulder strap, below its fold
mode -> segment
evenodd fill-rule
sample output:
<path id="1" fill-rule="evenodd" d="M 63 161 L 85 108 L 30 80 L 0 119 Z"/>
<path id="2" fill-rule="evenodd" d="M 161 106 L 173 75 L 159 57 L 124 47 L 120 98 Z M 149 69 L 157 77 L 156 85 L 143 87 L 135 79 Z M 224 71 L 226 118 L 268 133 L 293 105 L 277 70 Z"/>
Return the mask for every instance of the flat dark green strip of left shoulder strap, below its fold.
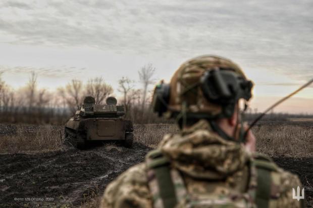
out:
<path id="1" fill-rule="evenodd" d="M 174 207 L 177 199 L 169 165 L 155 167 L 154 173 L 158 181 L 160 197 L 162 198 L 164 208 Z"/>

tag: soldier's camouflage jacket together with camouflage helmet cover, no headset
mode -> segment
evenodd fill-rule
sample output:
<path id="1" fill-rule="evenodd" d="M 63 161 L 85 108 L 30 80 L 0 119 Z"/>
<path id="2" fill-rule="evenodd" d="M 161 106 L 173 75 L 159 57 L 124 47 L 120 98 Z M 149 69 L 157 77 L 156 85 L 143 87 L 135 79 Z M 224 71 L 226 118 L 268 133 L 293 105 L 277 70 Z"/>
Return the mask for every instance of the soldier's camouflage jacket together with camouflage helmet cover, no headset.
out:
<path id="1" fill-rule="evenodd" d="M 192 59 L 171 80 L 172 110 L 222 112 L 219 105 L 203 98 L 199 88 L 190 91 L 188 87 L 196 86 L 212 66 L 231 66 L 244 77 L 227 59 Z M 178 134 L 167 134 L 145 162 L 109 184 L 100 207 L 302 207 L 304 200 L 292 198 L 292 188 L 297 186 L 302 188 L 296 175 L 277 167 L 267 156 L 248 152 L 243 144 L 225 140 L 206 119 L 200 119 Z"/>

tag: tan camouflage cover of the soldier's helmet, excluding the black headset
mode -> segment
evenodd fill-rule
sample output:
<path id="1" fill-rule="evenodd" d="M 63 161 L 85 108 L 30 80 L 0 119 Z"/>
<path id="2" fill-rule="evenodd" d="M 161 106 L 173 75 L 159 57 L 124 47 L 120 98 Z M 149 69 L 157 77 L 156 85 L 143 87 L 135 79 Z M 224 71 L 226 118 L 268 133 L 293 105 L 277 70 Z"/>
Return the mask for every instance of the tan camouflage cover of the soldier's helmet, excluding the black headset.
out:
<path id="1" fill-rule="evenodd" d="M 231 60 L 213 55 L 204 55 L 184 62 L 173 75 L 170 86 L 169 111 L 166 117 L 171 117 L 171 112 L 181 112 L 186 105 L 186 112 L 206 113 L 218 115 L 222 106 L 209 102 L 202 94 L 199 85 L 202 75 L 214 68 L 231 68 L 232 71 L 246 79 L 241 68 Z"/>

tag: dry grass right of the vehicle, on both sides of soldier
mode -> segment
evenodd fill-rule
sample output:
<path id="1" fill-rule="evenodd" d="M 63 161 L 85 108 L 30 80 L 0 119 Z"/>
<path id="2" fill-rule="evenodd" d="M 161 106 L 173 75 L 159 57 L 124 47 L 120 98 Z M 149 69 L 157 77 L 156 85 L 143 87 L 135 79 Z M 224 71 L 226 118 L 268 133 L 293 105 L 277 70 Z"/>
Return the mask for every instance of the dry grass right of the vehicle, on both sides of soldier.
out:
<path id="1" fill-rule="evenodd" d="M 313 157 L 313 128 L 296 125 L 259 125 L 252 129 L 258 152 L 271 157 Z M 166 133 L 177 133 L 174 124 L 135 126 L 137 142 L 156 148 Z"/>

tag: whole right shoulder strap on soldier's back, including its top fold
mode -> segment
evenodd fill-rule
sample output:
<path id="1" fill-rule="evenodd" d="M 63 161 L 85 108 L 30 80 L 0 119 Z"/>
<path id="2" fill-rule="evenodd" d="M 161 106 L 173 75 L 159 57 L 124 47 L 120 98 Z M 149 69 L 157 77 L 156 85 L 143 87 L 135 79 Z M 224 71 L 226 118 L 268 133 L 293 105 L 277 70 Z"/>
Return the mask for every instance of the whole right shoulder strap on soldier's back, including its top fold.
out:
<path id="1" fill-rule="evenodd" d="M 262 154 L 257 154 L 253 163 L 257 171 L 255 203 L 257 207 L 268 208 L 270 204 L 274 205 L 275 199 L 277 199 L 278 188 L 276 183 L 279 181 L 279 178 L 276 172 L 278 167 L 270 157 Z"/>

